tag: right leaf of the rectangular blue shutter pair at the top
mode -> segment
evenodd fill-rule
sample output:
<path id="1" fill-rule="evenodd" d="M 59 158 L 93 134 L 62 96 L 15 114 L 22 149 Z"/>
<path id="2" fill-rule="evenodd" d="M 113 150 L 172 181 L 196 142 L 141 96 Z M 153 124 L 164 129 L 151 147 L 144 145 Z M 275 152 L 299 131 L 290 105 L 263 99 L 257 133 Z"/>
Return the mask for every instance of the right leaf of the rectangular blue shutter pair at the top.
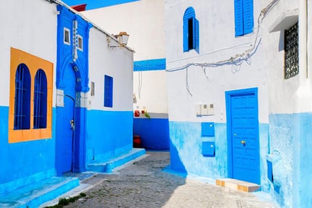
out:
<path id="1" fill-rule="evenodd" d="M 244 35 L 252 33 L 254 29 L 254 6 L 253 0 L 244 0 L 243 2 L 243 23 Z"/>

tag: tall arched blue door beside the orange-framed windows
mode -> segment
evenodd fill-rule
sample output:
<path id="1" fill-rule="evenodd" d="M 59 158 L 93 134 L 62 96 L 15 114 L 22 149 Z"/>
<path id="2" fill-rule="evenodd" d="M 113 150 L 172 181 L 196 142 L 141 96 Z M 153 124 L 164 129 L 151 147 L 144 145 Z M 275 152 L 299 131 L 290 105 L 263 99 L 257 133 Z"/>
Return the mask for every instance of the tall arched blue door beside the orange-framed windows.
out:
<path id="1" fill-rule="evenodd" d="M 64 106 L 57 107 L 56 123 L 56 171 L 58 175 L 73 171 L 75 138 L 75 97 L 76 78 L 71 65 L 64 70 Z"/>

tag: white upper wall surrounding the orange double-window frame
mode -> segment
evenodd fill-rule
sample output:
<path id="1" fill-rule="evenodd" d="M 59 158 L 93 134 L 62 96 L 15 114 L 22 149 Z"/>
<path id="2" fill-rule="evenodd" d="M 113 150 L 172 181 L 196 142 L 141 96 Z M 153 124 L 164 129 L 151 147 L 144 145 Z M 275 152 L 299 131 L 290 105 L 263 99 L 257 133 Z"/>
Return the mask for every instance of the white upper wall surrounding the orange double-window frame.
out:
<path id="1" fill-rule="evenodd" d="M 44 0 L 12 0 L 0 7 L 0 105 L 9 105 L 10 47 L 53 62 L 55 82 L 57 17 L 54 11 L 55 4 Z"/>

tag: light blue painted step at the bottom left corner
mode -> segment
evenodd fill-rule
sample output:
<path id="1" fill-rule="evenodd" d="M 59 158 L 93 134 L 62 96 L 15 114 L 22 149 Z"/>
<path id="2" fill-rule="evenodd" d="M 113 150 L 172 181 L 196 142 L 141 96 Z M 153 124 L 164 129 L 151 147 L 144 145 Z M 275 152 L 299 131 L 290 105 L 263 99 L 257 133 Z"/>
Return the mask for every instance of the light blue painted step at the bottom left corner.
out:
<path id="1" fill-rule="evenodd" d="M 39 207 L 78 185 L 77 177 L 50 177 L 0 196 L 0 207 Z"/>

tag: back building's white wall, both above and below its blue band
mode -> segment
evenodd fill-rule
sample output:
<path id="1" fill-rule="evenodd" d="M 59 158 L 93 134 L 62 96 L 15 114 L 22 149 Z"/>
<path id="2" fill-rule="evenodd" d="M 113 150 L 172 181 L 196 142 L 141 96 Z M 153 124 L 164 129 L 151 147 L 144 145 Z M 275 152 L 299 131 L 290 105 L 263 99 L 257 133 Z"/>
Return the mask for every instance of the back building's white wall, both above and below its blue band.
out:
<path id="1" fill-rule="evenodd" d="M 164 31 L 164 1 L 143 0 L 95 10 L 83 15 L 110 33 L 126 31 L 128 46 L 135 50 L 134 60 L 154 60 L 166 57 Z M 135 71 L 133 82 L 137 103 L 133 108 L 146 110 L 155 116 L 166 114 L 166 73 Z"/>

